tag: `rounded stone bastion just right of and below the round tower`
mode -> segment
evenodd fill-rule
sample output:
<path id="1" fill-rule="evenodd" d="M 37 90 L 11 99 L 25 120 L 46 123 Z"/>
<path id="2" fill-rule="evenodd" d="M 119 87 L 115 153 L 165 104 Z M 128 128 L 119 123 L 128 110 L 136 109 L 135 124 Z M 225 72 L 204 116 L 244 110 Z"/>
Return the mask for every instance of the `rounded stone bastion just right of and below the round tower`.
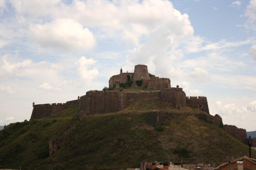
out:
<path id="1" fill-rule="evenodd" d="M 171 80 L 169 78 L 154 78 L 148 80 L 147 90 L 161 90 L 164 88 L 171 88 Z"/>

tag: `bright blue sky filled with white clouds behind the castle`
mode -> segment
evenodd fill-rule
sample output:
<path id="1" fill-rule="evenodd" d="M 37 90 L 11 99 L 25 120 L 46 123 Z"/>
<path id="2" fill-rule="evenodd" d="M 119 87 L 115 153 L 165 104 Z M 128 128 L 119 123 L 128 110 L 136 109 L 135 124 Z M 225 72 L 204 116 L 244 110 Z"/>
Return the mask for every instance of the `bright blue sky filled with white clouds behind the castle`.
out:
<path id="1" fill-rule="evenodd" d="M 0 125 L 134 65 L 256 130 L 256 0 L 0 0 Z"/>

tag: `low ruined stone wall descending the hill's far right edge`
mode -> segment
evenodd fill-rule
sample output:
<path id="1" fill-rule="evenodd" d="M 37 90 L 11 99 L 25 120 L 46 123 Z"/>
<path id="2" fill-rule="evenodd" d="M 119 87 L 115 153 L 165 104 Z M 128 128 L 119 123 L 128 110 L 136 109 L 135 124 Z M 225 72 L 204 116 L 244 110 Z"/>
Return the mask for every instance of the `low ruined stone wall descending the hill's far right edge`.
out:
<path id="1" fill-rule="evenodd" d="M 243 144 L 247 144 L 247 134 L 246 134 L 246 130 L 245 129 L 240 129 L 237 128 L 234 125 L 224 125 L 224 130 L 234 136 L 237 140 L 239 140 L 240 142 L 242 142 Z"/>

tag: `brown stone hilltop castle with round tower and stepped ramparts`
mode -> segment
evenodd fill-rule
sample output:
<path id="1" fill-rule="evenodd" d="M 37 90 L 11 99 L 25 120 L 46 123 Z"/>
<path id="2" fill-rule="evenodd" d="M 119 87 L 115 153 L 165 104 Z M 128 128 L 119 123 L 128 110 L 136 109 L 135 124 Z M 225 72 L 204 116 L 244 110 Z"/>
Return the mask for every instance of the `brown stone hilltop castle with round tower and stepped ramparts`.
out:
<path id="1" fill-rule="evenodd" d="M 135 100 L 160 99 L 172 103 L 176 108 L 194 107 L 209 114 L 207 99 L 204 96 L 186 97 L 182 88 L 177 85 L 171 87 L 169 78 L 159 78 L 148 73 L 148 66 L 135 65 L 133 73 L 123 73 L 111 76 L 108 85 L 112 88 L 118 88 L 121 83 L 130 82 L 131 87 L 140 85 L 147 87 L 143 92 L 122 92 L 122 91 L 98 91 L 91 90 L 77 100 L 67 101 L 66 103 L 52 103 L 35 105 L 33 102 L 33 111 L 30 119 L 41 119 L 46 116 L 52 116 L 58 112 L 74 105 L 78 105 L 79 116 L 93 114 L 105 114 L 123 111 L 126 104 Z"/>

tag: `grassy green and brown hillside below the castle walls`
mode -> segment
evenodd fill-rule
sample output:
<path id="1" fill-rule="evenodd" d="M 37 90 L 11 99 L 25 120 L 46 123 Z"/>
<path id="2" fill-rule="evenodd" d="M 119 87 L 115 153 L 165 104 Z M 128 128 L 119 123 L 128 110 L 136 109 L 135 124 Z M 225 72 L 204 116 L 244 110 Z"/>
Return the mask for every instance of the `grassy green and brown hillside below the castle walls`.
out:
<path id="1" fill-rule="evenodd" d="M 139 167 L 142 160 L 220 164 L 227 155 L 248 156 L 246 145 L 202 119 L 199 115 L 205 113 L 197 109 L 178 110 L 146 100 L 135 101 L 123 112 L 80 121 L 76 112 L 74 107 L 54 117 L 8 125 L 0 131 L 0 168 L 126 169 Z M 156 115 L 163 118 L 161 123 L 156 123 Z M 48 157 L 49 139 L 60 137 L 77 121 L 64 144 Z"/>

